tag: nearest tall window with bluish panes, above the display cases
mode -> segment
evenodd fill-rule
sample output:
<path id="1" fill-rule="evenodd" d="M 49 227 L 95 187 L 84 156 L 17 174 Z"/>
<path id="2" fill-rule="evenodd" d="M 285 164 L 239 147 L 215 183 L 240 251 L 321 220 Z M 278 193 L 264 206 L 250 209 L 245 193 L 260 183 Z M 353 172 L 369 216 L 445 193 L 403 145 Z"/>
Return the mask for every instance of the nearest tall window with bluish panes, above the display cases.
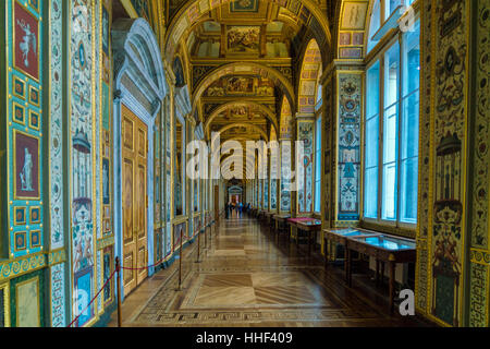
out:
<path id="1" fill-rule="evenodd" d="M 370 29 L 382 32 L 400 5 L 376 1 Z M 390 28 L 397 34 L 380 38 L 366 72 L 364 219 L 409 226 L 417 222 L 420 25 L 416 17 L 408 31 Z M 369 33 L 368 47 L 377 35 Z"/>

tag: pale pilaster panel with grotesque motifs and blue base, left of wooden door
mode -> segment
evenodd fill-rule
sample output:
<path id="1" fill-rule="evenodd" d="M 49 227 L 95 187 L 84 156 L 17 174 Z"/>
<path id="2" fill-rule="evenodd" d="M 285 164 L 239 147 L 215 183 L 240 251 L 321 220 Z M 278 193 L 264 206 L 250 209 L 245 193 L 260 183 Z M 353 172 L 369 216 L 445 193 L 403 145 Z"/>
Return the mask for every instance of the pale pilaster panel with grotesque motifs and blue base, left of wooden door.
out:
<path id="1" fill-rule="evenodd" d="M 70 158 L 72 217 L 73 318 L 95 294 L 95 41 L 94 0 L 70 2 Z M 81 314 L 75 326 L 84 326 L 95 317 L 95 304 Z"/>

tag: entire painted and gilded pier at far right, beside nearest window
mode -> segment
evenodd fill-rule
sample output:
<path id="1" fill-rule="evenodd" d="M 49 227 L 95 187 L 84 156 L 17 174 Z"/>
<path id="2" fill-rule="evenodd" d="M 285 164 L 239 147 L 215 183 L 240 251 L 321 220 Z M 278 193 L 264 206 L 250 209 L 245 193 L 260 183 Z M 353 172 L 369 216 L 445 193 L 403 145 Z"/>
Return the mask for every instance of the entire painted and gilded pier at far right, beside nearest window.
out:
<path id="1" fill-rule="evenodd" d="M 421 7 L 416 304 L 445 326 L 489 325 L 489 11 Z"/>

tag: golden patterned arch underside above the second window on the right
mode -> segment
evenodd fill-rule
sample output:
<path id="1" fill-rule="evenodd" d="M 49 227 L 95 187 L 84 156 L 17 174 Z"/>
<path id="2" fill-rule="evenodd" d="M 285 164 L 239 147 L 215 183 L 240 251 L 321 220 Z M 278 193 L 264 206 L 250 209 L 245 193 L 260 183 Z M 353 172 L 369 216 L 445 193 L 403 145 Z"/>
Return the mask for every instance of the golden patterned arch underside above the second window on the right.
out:
<path id="1" fill-rule="evenodd" d="M 297 88 L 297 111 L 314 113 L 317 104 L 318 80 L 321 71 L 321 52 L 317 40 L 311 39 L 306 47 Z"/>

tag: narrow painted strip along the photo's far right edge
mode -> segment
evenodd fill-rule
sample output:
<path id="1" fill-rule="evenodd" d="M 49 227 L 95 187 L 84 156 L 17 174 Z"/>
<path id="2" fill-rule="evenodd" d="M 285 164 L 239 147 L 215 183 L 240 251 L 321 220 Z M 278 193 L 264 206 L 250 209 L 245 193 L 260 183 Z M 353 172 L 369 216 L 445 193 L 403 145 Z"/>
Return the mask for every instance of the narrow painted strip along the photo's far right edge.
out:
<path id="1" fill-rule="evenodd" d="M 469 322 L 471 327 L 488 327 L 490 312 L 490 1 L 476 1 L 474 11 L 473 31 L 475 32 L 473 45 L 476 45 L 476 55 L 471 58 L 475 73 L 469 103 L 473 130 L 470 130 L 473 189 L 470 194 L 470 251 L 469 251 Z"/>

